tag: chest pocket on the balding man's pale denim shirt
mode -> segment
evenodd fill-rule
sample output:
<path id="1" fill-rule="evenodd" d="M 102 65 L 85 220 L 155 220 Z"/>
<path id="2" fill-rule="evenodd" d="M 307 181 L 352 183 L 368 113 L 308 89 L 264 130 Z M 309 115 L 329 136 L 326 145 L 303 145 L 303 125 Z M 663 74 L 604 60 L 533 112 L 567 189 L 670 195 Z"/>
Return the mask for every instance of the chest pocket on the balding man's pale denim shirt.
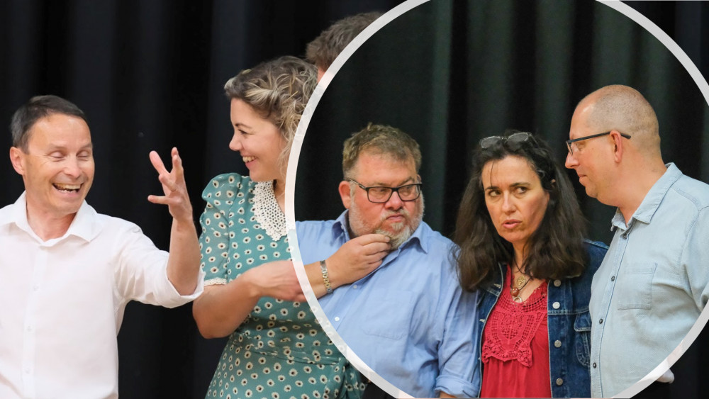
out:
<path id="1" fill-rule="evenodd" d="M 614 294 L 618 310 L 652 309 L 652 277 L 657 263 L 629 264 L 621 271 Z"/>

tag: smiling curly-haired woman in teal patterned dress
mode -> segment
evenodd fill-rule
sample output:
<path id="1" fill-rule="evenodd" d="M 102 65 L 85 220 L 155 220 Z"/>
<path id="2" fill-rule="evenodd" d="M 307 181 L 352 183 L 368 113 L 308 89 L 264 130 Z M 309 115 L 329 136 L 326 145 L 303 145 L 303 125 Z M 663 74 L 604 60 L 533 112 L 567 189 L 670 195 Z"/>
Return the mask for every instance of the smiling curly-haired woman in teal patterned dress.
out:
<path id="1" fill-rule="evenodd" d="M 208 398 L 359 398 L 363 389 L 359 373 L 301 303 L 286 235 L 285 166 L 316 77 L 312 64 L 280 57 L 225 85 L 234 127 L 229 148 L 249 176 L 216 176 L 202 194 L 206 278 L 193 314 L 204 337 L 229 337 Z"/>

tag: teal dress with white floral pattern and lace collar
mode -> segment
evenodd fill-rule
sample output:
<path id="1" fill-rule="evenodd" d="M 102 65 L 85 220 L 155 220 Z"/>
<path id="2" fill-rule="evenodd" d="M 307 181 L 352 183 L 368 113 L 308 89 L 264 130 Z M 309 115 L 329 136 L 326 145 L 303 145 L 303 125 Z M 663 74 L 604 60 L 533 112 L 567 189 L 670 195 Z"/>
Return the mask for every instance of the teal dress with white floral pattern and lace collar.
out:
<path id="1" fill-rule="evenodd" d="M 286 219 L 271 181 L 222 174 L 204 189 L 204 284 L 290 259 Z M 261 298 L 229 337 L 206 398 L 360 398 L 364 383 L 325 335 L 308 303 Z"/>

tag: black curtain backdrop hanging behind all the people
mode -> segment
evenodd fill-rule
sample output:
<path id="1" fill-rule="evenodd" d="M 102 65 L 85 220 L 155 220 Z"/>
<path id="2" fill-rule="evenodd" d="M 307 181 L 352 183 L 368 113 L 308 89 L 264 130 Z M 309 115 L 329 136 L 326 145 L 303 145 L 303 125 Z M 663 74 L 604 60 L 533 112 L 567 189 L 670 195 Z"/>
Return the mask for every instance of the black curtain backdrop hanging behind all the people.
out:
<path id="1" fill-rule="evenodd" d="M 167 249 L 167 209 L 146 199 L 160 192 L 148 152 L 165 158 L 179 148 L 197 220 L 201 190 L 212 176 L 247 173 L 228 150 L 223 83 L 257 62 L 302 56 L 332 21 L 399 3 L 2 0 L 0 120 L 9 124 L 13 111 L 37 94 L 77 103 L 89 117 L 96 154 L 87 201 L 100 213 L 138 223 Z M 709 77 L 709 4 L 627 4 L 674 38 Z M 298 164 L 296 219 L 330 219 L 342 211 L 342 141 L 373 121 L 420 142 L 425 220 L 450 234 L 479 138 L 505 128 L 531 130 L 557 143 L 563 159 L 576 102 L 610 83 L 645 94 L 660 119 L 666 162 L 709 181 L 707 104 L 681 64 L 629 18 L 593 1 L 432 0 L 376 33 L 325 91 Z M 2 140 L 7 151 L 7 130 Z M 23 190 L 7 161 L 0 183 L 0 206 Z M 613 210 L 576 188 L 591 237 L 610 241 Z M 167 310 L 131 303 L 118 336 L 121 397 L 202 398 L 224 342 L 199 336 L 190 305 Z M 708 349 L 703 333 L 673 368 L 676 383 L 659 392 L 698 398 L 706 391 Z"/>

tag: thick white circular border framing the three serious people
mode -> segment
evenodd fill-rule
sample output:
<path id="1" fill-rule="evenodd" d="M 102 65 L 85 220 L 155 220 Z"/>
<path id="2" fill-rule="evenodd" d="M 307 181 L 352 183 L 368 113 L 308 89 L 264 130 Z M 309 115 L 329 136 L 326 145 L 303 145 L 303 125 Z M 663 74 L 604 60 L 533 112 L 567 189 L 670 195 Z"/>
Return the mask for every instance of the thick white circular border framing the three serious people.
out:
<path id="1" fill-rule="evenodd" d="M 306 274 L 305 267 L 303 266 L 303 259 L 301 259 L 300 250 L 298 249 L 298 236 L 296 234 L 296 220 L 295 220 L 295 210 L 294 210 L 294 199 L 295 199 L 295 182 L 296 182 L 296 169 L 298 166 L 298 158 L 300 157 L 301 147 L 303 146 L 303 138 L 308 130 L 308 125 L 310 124 L 311 118 L 313 116 L 313 111 L 318 106 L 320 99 L 323 96 L 323 92 L 328 88 L 330 82 L 332 82 L 333 77 L 342 68 L 342 65 L 350 59 L 350 56 L 374 33 L 379 29 L 386 26 L 387 23 L 393 21 L 394 18 L 401 16 L 401 14 L 406 13 L 420 4 L 426 3 L 429 0 L 408 0 L 394 7 L 390 11 L 384 13 L 383 16 L 379 17 L 367 28 L 362 30 L 352 42 L 342 50 L 340 55 L 337 56 L 332 65 L 325 71 L 323 77 L 320 79 L 318 86 L 311 95 L 308 104 L 303 111 L 303 116 L 301 116 L 301 121 L 298 123 L 298 128 L 296 130 L 296 135 L 293 140 L 293 145 L 291 147 L 291 153 L 288 162 L 288 172 L 286 172 L 286 227 L 288 229 L 288 240 L 291 243 L 291 257 L 293 259 L 293 264 L 296 269 L 296 276 L 298 281 L 301 283 L 301 288 L 303 288 L 303 293 L 305 293 L 308 305 L 310 305 L 313 313 L 315 314 L 320 326 L 323 327 L 325 333 L 333 340 L 333 343 L 337 349 L 342 352 L 352 365 L 359 370 L 366 378 L 374 382 L 379 388 L 389 393 L 395 398 L 413 398 L 411 395 L 404 393 L 402 390 L 393 386 L 389 381 L 381 378 L 379 374 L 375 373 L 367 364 L 359 359 L 357 354 L 352 352 L 352 349 L 345 343 L 345 341 L 340 337 L 330 324 L 330 320 L 325 316 L 323 308 L 320 308 L 320 303 L 318 303 L 318 298 L 316 298 L 315 293 L 313 293 L 313 288 L 311 288 L 308 281 L 308 275 Z M 694 82 L 699 87 L 702 92 L 705 101 L 709 103 L 709 84 L 703 77 L 696 65 L 691 61 L 691 59 L 686 55 L 686 53 L 675 43 L 672 38 L 667 35 L 664 30 L 661 30 L 659 26 L 655 25 L 646 16 L 642 15 L 640 12 L 632 9 L 632 7 L 623 4 L 620 0 L 597 0 L 599 3 L 604 4 L 615 11 L 623 13 L 623 15 L 638 23 L 640 26 L 645 28 L 649 33 L 652 33 L 657 40 L 659 40 L 672 54 L 681 62 L 683 67 L 689 72 Z M 647 388 L 651 383 L 662 376 L 666 371 L 669 370 L 670 366 L 675 364 L 675 362 L 682 356 L 684 352 L 690 347 L 692 342 L 696 340 L 699 333 L 702 331 L 704 325 L 706 325 L 709 320 L 709 308 L 705 308 L 700 314 L 697 321 L 694 323 L 692 328 L 689 330 L 688 334 L 679 345 L 667 356 L 667 358 L 661 362 L 655 369 L 647 373 L 637 383 L 635 383 L 630 388 L 623 390 L 623 392 L 615 395 L 614 398 L 627 398 L 632 395 L 640 393 L 641 390 Z"/>

